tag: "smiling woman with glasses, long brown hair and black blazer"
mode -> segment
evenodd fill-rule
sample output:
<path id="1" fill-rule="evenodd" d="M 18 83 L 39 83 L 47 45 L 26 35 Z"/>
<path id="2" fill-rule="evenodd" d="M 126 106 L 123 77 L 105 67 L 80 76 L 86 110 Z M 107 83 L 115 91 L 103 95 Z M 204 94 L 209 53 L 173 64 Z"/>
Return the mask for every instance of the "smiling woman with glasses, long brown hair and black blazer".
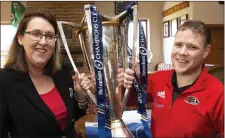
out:
<path id="1" fill-rule="evenodd" d="M 47 12 L 22 18 L 0 75 L 0 137 L 75 137 L 91 81 L 61 65 L 57 22 Z M 76 83 L 75 83 L 76 82 Z M 75 86 L 74 86 L 75 85 Z M 75 89 L 75 91 L 74 91 Z"/>

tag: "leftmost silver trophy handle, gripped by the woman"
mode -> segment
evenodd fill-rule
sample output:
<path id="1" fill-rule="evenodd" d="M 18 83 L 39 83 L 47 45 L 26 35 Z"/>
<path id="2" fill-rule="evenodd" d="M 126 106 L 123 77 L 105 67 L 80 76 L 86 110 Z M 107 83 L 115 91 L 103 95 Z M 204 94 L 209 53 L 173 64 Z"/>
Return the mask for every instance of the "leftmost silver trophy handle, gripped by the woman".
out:
<path id="1" fill-rule="evenodd" d="M 62 38 L 64 47 L 65 47 L 65 49 L 66 49 L 66 53 L 67 53 L 67 55 L 68 55 L 68 57 L 69 57 L 70 63 L 72 64 L 74 71 L 78 73 L 78 77 L 80 77 L 80 73 L 79 73 L 79 71 L 77 70 L 77 67 L 76 67 L 76 65 L 75 65 L 75 63 L 74 63 L 74 61 L 73 61 L 72 56 L 71 56 L 71 53 L 70 53 L 70 50 L 69 50 L 69 46 L 68 46 L 68 44 L 67 44 L 67 42 L 66 42 L 66 36 L 65 36 L 65 34 L 64 34 L 64 32 L 63 32 L 62 24 L 66 24 L 66 25 L 72 26 L 72 27 L 74 27 L 74 28 L 76 28 L 76 27 L 78 28 L 78 27 L 81 27 L 81 26 L 80 26 L 80 25 L 77 25 L 77 24 L 75 24 L 75 23 L 72 23 L 72 22 L 57 21 L 57 25 L 58 25 L 58 28 L 59 28 L 59 32 L 60 32 L 60 35 L 61 35 L 61 38 Z M 92 92 L 91 92 L 90 90 L 87 90 L 87 93 L 88 93 L 89 97 L 92 99 L 92 101 L 93 101 L 95 104 L 97 104 L 96 98 L 95 98 L 95 96 L 92 94 Z"/>

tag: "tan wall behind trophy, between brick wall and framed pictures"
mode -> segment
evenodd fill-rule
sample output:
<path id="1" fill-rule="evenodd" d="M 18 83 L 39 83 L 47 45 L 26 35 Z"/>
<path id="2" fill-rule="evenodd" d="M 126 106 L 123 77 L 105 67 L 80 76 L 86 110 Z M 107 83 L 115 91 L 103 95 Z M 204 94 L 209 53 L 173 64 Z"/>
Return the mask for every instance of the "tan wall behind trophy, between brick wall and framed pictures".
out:
<path id="1" fill-rule="evenodd" d="M 99 12 L 108 16 L 115 16 L 115 3 L 95 2 Z M 155 70 L 155 66 L 163 61 L 162 55 L 162 5 L 163 2 L 138 2 L 138 18 L 149 19 L 150 50 L 153 58 L 148 66 L 149 71 Z"/>

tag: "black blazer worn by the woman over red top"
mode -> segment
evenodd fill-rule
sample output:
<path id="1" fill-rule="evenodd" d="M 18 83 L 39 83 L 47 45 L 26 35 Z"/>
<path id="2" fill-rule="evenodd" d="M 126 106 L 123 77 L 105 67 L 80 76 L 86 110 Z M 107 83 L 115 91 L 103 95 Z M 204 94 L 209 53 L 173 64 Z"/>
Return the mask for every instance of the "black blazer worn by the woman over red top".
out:
<path id="1" fill-rule="evenodd" d="M 3 69 L 0 74 L 0 138 L 75 137 L 74 122 L 85 115 L 74 98 L 72 76 L 68 68 L 53 77 L 68 111 L 67 126 L 61 129 L 56 117 L 39 96 L 28 73 Z M 69 89 L 73 89 L 73 95 Z"/>

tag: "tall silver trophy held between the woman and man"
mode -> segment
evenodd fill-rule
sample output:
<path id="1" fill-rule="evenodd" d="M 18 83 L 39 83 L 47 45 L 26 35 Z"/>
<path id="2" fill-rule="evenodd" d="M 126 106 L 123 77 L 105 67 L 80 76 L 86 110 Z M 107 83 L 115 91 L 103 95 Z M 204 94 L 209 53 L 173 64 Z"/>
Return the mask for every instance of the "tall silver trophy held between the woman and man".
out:
<path id="1" fill-rule="evenodd" d="M 131 7 L 133 9 L 133 45 L 132 45 L 132 59 L 136 59 L 136 45 L 137 45 L 137 6 Z M 62 24 L 72 27 L 79 35 L 80 44 L 86 62 L 88 64 L 90 72 L 94 73 L 94 52 L 93 52 L 93 38 L 91 27 L 91 14 L 90 5 L 85 5 L 85 15 L 80 24 L 74 24 L 71 22 L 58 21 L 59 31 L 66 48 L 69 58 L 71 57 L 65 35 L 62 29 Z M 103 42 L 103 59 L 104 59 L 104 78 L 107 86 L 109 97 L 109 114 L 110 114 L 110 127 L 112 137 L 134 137 L 133 134 L 127 129 L 122 121 L 122 113 L 124 106 L 128 99 L 128 90 L 124 93 L 123 86 L 119 86 L 117 83 L 117 75 L 119 68 L 126 68 L 128 64 L 128 58 L 126 55 L 125 47 L 125 18 L 127 11 L 115 17 L 108 17 L 100 13 L 102 19 L 102 42 Z M 70 58 L 71 64 L 74 70 L 77 71 L 72 58 Z M 134 64 L 134 63 L 133 63 Z M 132 68 L 133 69 L 133 68 Z M 96 75 L 96 74 L 95 74 Z M 96 104 L 96 98 L 88 91 L 89 96 Z"/>

